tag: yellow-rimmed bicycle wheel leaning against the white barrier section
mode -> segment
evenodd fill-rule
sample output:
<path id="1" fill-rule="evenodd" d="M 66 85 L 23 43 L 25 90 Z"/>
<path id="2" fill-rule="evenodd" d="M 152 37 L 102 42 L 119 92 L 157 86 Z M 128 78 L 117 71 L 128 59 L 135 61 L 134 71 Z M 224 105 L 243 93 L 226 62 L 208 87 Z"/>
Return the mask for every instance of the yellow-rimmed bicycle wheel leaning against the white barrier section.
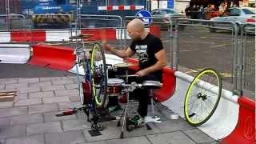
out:
<path id="1" fill-rule="evenodd" d="M 201 126 L 214 114 L 222 94 L 222 79 L 213 69 L 202 70 L 190 83 L 184 115 L 191 126 Z"/>

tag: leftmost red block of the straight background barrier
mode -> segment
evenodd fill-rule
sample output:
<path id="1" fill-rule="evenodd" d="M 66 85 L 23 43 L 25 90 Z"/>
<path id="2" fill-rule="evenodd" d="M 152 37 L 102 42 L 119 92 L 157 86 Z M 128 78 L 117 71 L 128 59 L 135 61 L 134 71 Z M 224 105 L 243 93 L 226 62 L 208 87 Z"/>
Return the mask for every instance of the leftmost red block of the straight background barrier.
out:
<path id="1" fill-rule="evenodd" d="M 11 42 L 46 42 L 46 30 L 10 30 Z"/>

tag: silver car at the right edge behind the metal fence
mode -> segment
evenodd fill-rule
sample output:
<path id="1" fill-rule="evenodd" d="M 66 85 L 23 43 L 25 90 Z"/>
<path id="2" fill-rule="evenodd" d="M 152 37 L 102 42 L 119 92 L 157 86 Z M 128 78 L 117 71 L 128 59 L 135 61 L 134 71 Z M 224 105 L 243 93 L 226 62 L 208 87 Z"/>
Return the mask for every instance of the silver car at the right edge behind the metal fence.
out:
<path id="1" fill-rule="evenodd" d="M 232 21 L 239 24 L 250 24 L 252 29 L 255 28 L 255 9 L 251 7 L 232 7 L 227 10 L 226 14 L 221 17 L 214 17 L 211 21 Z M 217 26 L 212 24 L 211 26 Z M 211 32 L 216 31 L 214 28 L 210 28 Z M 239 30 L 240 31 L 240 30 Z"/>

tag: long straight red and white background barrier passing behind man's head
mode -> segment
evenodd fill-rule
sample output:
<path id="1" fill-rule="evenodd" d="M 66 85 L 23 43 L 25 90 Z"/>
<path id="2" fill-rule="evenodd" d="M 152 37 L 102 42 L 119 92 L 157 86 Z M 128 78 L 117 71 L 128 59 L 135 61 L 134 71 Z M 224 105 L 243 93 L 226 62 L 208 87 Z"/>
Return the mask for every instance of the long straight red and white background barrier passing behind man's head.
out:
<path id="1" fill-rule="evenodd" d="M 150 26 L 146 31 L 160 36 L 158 26 Z M 100 41 L 106 39 L 115 41 L 118 39 L 130 39 L 125 29 L 117 28 L 94 28 L 78 30 L 78 34 L 91 34 L 90 41 Z M 125 35 L 126 34 L 126 35 Z M 2 42 L 62 42 L 69 41 L 71 36 L 76 35 L 70 30 L 10 30 L 10 32 L 0 32 L 0 43 Z"/>

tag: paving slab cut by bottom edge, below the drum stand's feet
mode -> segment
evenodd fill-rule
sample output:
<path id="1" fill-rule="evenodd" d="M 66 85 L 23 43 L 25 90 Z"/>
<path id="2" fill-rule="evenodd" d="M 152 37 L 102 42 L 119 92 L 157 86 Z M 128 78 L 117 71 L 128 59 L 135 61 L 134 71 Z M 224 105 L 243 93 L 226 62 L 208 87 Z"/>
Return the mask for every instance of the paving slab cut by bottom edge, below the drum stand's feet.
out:
<path id="1" fill-rule="evenodd" d="M 150 144 L 150 142 L 145 137 L 135 137 L 135 138 L 124 138 L 124 139 L 113 139 L 107 141 L 109 144 Z"/>

